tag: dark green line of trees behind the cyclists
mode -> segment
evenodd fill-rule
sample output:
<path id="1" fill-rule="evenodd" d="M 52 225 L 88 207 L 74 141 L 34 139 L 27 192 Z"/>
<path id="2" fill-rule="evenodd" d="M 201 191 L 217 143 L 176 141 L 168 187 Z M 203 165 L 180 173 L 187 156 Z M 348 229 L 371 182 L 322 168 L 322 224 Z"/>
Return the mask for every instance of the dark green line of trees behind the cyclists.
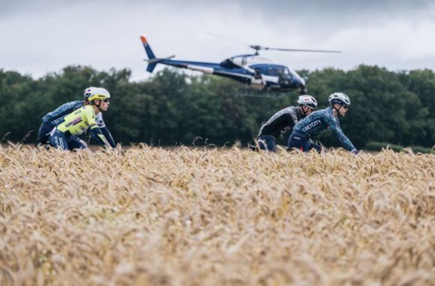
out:
<path id="1" fill-rule="evenodd" d="M 434 145 L 432 70 L 392 72 L 360 65 L 349 71 L 325 68 L 299 73 L 307 79 L 309 94 L 316 97 L 319 108 L 327 106 L 333 92 L 349 95 L 351 107 L 340 123 L 356 147 L 365 148 L 374 141 Z M 297 91 L 269 98 L 246 96 L 252 93 L 235 81 L 169 69 L 141 82 L 132 82 L 128 69 L 101 72 L 68 66 L 39 79 L 0 70 L 0 138 L 35 142 L 42 116 L 63 103 L 82 99 L 88 86 L 104 87 L 112 95 L 104 120 L 115 141 L 124 145 L 245 144 L 255 139 L 263 121 L 295 105 L 298 97 Z M 287 136 L 278 143 L 285 144 Z M 338 145 L 331 132 L 318 139 L 325 145 Z"/>

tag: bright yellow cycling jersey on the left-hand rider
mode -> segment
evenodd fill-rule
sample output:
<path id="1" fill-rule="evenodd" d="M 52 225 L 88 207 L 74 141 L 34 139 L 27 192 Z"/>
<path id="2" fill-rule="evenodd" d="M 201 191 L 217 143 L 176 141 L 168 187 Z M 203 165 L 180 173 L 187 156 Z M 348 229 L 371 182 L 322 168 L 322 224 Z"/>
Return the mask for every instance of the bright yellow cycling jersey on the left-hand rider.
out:
<path id="1" fill-rule="evenodd" d="M 57 125 L 57 130 L 61 132 L 69 131 L 71 135 L 79 136 L 89 127 L 96 125 L 95 111 L 92 105 L 86 105 L 65 116 L 64 122 Z"/>

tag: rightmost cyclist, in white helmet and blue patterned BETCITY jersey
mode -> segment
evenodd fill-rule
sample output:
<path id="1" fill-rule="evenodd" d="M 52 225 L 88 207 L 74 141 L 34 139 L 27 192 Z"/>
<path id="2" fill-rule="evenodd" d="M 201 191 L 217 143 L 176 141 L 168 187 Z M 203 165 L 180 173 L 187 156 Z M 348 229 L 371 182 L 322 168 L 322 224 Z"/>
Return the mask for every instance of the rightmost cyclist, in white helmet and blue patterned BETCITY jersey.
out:
<path id="1" fill-rule="evenodd" d="M 324 110 L 317 110 L 310 116 L 302 119 L 293 127 L 293 132 L 289 137 L 287 147 L 298 148 L 303 152 L 308 152 L 315 147 L 311 143 L 311 136 L 314 136 L 328 127 L 336 135 L 340 143 L 350 152 L 357 154 L 358 150 L 354 147 L 347 136 L 340 128 L 338 116 L 345 116 L 351 104 L 349 96 L 344 93 L 336 92 L 329 96 L 329 107 Z"/>

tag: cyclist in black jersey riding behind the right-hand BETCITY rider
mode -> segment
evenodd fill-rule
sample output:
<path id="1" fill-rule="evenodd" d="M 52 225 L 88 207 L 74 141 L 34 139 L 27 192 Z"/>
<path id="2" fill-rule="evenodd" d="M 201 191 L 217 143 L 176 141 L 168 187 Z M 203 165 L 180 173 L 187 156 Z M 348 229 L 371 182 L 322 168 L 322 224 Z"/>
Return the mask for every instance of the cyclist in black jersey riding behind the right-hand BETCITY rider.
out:
<path id="1" fill-rule="evenodd" d="M 317 101 L 311 95 L 301 95 L 296 102 L 298 106 L 284 108 L 273 114 L 268 121 L 262 124 L 257 137 L 258 146 L 261 150 L 275 152 L 276 139 L 317 108 Z"/>

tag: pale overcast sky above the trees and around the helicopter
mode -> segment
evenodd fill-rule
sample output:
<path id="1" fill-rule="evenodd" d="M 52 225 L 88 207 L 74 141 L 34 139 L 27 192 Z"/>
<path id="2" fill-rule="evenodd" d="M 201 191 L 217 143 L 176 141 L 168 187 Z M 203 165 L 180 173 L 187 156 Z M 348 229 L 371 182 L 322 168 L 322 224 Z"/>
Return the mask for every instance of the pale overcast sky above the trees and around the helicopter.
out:
<path id="1" fill-rule="evenodd" d="M 249 43 L 342 50 L 262 52 L 296 70 L 435 70 L 435 1 L 424 0 L 0 0 L 0 69 L 37 78 L 67 65 L 129 68 L 142 80 L 141 34 L 157 57 L 220 62 L 251 52 Z"/>

